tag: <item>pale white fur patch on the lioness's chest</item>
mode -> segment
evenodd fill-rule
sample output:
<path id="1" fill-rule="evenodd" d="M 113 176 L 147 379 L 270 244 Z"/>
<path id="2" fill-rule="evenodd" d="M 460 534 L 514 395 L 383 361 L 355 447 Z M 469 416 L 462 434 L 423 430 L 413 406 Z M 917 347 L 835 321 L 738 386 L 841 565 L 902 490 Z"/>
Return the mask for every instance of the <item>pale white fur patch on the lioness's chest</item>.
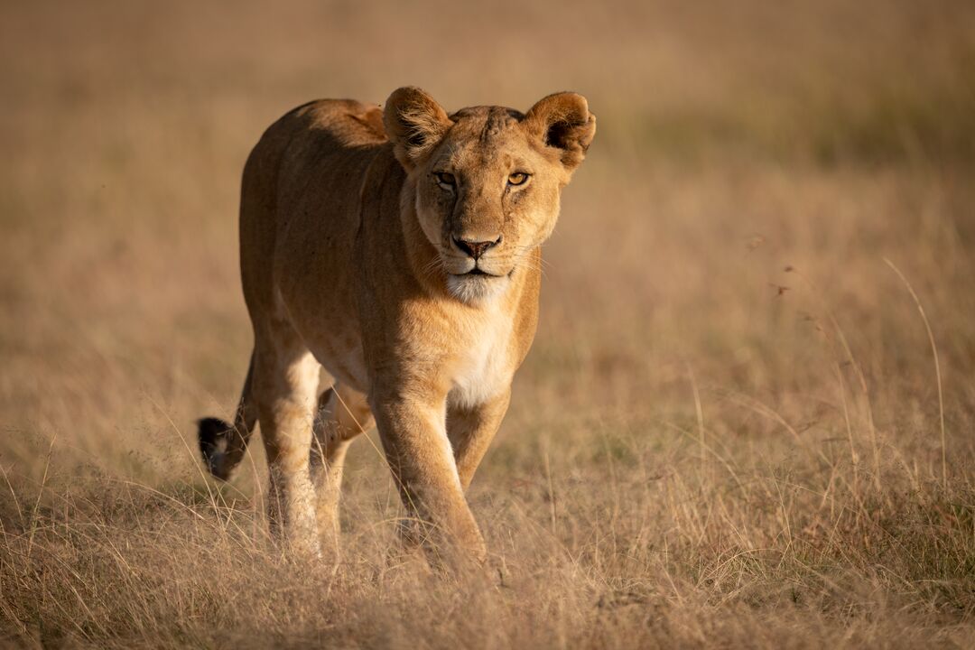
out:
<path id="1" fill-rule="evenodd" d="M 498 319 L 475 326 L 457 355 L 448 402 L 472 407 L 502 393 L 511 384 L 512 323 Z"/>

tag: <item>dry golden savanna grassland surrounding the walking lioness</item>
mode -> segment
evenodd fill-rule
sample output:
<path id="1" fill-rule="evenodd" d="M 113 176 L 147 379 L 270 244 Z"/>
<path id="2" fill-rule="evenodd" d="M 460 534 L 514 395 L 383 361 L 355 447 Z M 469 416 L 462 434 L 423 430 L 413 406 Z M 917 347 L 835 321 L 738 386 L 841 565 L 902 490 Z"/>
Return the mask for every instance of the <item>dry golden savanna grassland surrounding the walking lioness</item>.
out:
<path id="1" fill-rule="evenodd" d="M 2 638 L 975 642 L 975 5 L 271 7 L 0 8 Z M 194 446 L 251 344 L 249 148 L 406 84 L 600 120 L 470 491 L 501 578 L 390 553 L 374 435 L 311 566 L 267 543 L 260 445 L 229 485 Z"/>

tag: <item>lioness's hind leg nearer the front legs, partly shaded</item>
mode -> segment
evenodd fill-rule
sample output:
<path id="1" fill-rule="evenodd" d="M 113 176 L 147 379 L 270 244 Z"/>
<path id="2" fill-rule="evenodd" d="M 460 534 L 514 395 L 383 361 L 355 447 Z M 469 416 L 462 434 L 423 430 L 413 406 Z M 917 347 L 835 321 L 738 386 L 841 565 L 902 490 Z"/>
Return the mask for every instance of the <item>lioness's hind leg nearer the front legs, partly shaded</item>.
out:
<path id="1" fill-rule="evenodd" d="M 326 548 L 338 549 L 338 499 L 345 452 L 356 436 L 373 426 L 369 403 L 362 393 L 336 384 L 319 398 L 310 466 L 318 531 Z"/>

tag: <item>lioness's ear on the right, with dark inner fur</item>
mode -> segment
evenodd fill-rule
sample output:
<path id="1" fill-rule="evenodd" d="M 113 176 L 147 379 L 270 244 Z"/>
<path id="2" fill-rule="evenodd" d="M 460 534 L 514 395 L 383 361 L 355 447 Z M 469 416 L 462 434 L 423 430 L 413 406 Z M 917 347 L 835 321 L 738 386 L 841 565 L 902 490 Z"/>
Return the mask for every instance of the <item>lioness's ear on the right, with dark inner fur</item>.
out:
<path id="1" fill-rule="evenodd" d="M 528 110 L 525 126 L 546 145 L 561 149 L 562 164 L 572 171 L 582 163 L 596 135 L 596 116 L 589 112 L 584 96 L 556 93 Z"/>

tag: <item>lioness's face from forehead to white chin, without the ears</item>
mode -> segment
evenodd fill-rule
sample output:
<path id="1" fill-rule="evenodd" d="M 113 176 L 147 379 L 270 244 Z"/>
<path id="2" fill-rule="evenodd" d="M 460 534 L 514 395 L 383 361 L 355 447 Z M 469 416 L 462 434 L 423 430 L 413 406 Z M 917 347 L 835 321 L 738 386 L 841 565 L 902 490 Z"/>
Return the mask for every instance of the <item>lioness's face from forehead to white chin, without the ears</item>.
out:
<path id="1" fill-rule="evenodd" d="M 565 173 L 514 111 L 466 109 L 416 172 L 416 215 L 465 300 L 505 287 L 551 234 Z"/>

